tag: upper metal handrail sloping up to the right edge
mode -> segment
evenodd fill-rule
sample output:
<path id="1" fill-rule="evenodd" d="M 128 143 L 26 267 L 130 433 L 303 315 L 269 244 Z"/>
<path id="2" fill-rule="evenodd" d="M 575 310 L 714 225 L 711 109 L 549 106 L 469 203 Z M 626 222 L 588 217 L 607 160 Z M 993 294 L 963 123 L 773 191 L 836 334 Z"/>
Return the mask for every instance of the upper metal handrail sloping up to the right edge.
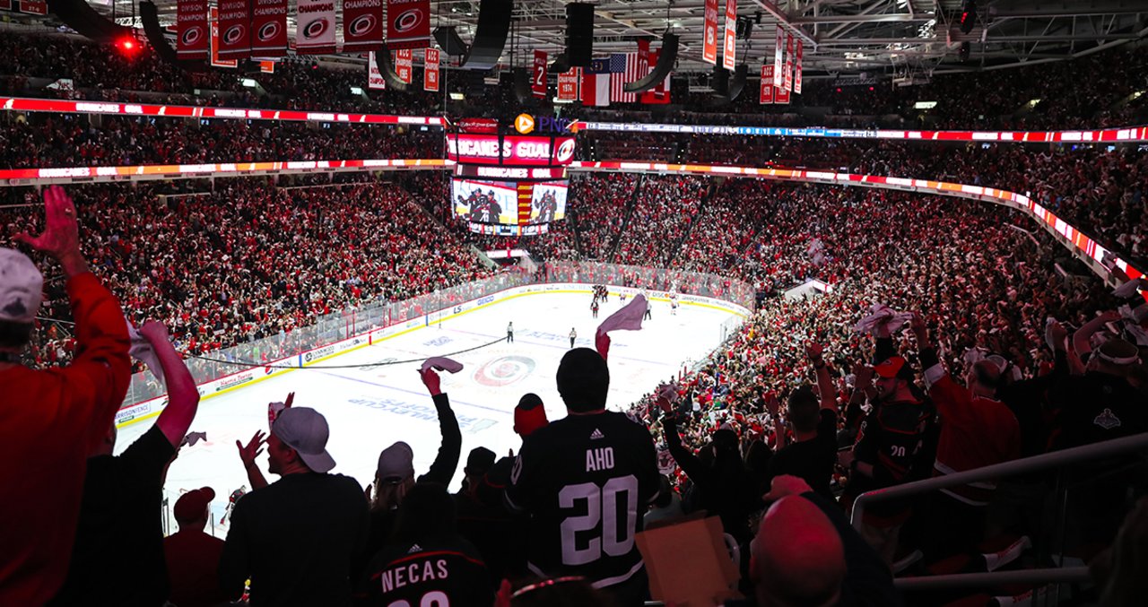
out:
<path id="1" fill-rule="evenodd" d="M 1104 441 L 1103 443 L 1094 443 L 1091 445 L 1053 451 L 1052 453 L 1016 459 L 1002 464 L 993 464 L 992 466 L 985 466 L 983 468 L 959 472 L 956 474 L 946 474 L 945 476 L 934 476 L 932 478 L 914 481 L 912 483 L 899 484 L 895 487 L 874 489 L 872 491 L 866 491 L 864 493 L 858 496 L 856 500 L 853 503 L 853 519 L 851 522 L 854 528 L 861 529 L 861 520 L 864 514 L 864 508 L 874 501 L 908 497 L 923 493 L 925 491 L 948 489 L 951 487 L 957 487 L 977 481 L 988 481 L 1004 476 L 1041 472 L 1049 468 L 1056 468 L 1058 466 L 1079 464 L 1081 461 L 1119 456 L 1140 450 L 1148 450 L 1148 433 L 1125 436 L 1123 438 L 1114 438 L 1111 441 Z"/>

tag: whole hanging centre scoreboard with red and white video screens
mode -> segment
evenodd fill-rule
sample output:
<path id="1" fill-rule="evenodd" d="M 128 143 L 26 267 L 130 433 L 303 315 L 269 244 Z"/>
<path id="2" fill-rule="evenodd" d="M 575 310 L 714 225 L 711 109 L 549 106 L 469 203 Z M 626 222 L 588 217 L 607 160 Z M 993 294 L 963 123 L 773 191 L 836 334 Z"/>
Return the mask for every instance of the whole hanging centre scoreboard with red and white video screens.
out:
<path id="1" fill-rule="evenodd" d="M 447 129 L 451 207 L 472 232 L 536 235 L 566 217 L 577 123 L 520 114 L 512 124 L 464 118 Z"/>

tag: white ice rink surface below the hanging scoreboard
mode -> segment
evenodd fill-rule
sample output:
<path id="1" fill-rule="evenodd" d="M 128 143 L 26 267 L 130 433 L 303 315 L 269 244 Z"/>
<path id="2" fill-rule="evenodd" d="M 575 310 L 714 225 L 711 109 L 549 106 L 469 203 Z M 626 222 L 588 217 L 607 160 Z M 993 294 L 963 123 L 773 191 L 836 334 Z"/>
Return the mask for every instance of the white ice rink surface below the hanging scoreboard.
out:
<path id="1" fill-rule="evenodd" d="M 565 417 L 554 387 L 558 363 L 569 348 L 569 332 L 577 332 L 576 345 L 594 347 L 598 324 L 621 308 L 612 295 L 599 311 L 590 314 L 590 295 L 534 294 L 473 310 L 441 325 L 430 325 L 360 348 L 316 366 L 292 371 L 200 403 L 192 431 L 205 431 L 208 439 L 185 446 L 168 473 L 165 492 L 170 504 L 184 491 L 211 487 L 214 519 L 224 514 L 231 491 L 247 485 L 235 441 L 247 443 L 256 430 L 267 429 L 267 403 L 295 392 L 295 406 L 321 412 L 331 426 L 327 449 L 335 458 L 334 473 L 354 476 L 359 484 L 372 482 L 379 452 L 395 441 L 406 441 L 414 450 L 414 469 L 425 473 L 439 450 L 439 420 L 430 396 L 418 375 L 421 360 L 505 337 L 506 324 L 514 322 L 514 343 L 496 343 L 453 358 L 465 368 L 442 373 L 443 391 L 450 397 L 463 431 L 463 451 L 452 490 L 461 481 L 466 454 L 476 446 L 499 457 L 517 450 L 513 410 L 519 397 L 535 392 L 542 397 L 549 419 Z M 674 376 L 683 365 L 708 353 L 721 341 L 721 325 L 735 314 L 684 304 L 670 316 L 669 304 L 653 302 L 652 319 L 639 332 L 612 334 L 610 350 L 610 407 L 622 408 Z M 387 365 L 396 360 L 418 363 Z M 371 365 L 357 368 L 324 368 Z M 121 429 L 116 452 L 126 449 L 147 431 L 155 418 Z M 266 474 L 266 453 L 259 456 Z M 277 476 L 267 475 L 273 482 Z M 174 531 L 174 522 L 171 521 Z M 210 530 L 210 529 L 209 529 Z M 225 528 L 216 524 L 216 535 Z"/>

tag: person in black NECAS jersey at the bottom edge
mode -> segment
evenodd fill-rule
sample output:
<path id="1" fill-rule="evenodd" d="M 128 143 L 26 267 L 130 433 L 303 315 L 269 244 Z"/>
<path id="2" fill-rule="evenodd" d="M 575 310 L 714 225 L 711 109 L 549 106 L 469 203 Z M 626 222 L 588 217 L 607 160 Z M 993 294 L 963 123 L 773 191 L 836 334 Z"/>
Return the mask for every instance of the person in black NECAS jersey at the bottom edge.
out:
<path id="1" fill-rule="evenodd" d="M 455 503 L 436 483 L 411 488 L 395 535 L 380 550 L 356 594 L 362 606 L 487 607 L 494 587 L 479 551 L 457 531 Z"/>

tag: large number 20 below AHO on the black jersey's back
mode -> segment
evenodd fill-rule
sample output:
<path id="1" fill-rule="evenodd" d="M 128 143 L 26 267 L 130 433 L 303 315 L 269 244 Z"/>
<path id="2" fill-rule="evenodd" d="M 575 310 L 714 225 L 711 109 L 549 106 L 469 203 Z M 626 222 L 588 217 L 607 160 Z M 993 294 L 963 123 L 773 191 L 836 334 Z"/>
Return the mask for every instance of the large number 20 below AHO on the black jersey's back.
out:
<path id="1" fill-rule="evenodd" d="M 563 521 L 563 565 L 587 565 L 602 558 L 622 557 L 634 548 L 634 528 L 638 511 L 638 480 L 633 474 L 597 483 L 569 484 L 558 492 L 560 508 L 577 507 L 585 501 L 584 516 L 571 516 Z M 618 507 L 625 504 L 626 520 L 618 520 Z M 579 546 L 576 534 L 597 531 L 589 542 Z M 583 535 L 583 538 L 585 534 Z"/>

